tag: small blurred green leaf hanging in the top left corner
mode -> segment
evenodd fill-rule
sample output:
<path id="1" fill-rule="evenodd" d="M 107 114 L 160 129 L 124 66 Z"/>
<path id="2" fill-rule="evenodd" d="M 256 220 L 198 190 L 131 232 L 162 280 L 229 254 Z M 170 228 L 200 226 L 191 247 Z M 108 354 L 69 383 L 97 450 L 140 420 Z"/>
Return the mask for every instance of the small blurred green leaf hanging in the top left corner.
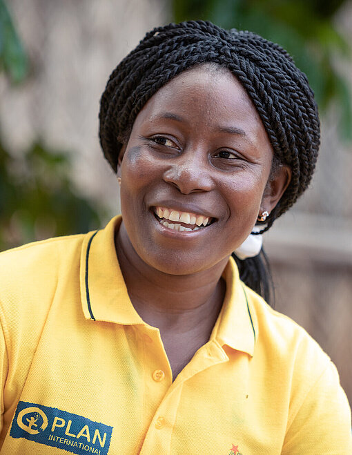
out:
<path id="1" fill-rule="evenodd" d="M 23 81 L 28 73 L 26 52 L 3 0 L 0 0 L 0 70 L 14 83 Z"/>

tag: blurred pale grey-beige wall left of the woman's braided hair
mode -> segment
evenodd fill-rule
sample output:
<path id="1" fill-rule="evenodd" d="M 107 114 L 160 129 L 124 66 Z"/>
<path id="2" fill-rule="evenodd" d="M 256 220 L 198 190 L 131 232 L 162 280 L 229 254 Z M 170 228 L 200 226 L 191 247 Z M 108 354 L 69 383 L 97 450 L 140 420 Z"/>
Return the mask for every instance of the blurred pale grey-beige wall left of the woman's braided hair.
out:
<path id="1" fill-rule="evenodd" d="M 164 0 L 10 0 L 31 61 L 25 84 L 0 76 L 0 125 L 12 153 L 40 135 L 75 154 L 84 194 L 118 210 L 115 177 L 99 146 L 99 99 L 110 72 L 144 34 L 166 22 Z"/>

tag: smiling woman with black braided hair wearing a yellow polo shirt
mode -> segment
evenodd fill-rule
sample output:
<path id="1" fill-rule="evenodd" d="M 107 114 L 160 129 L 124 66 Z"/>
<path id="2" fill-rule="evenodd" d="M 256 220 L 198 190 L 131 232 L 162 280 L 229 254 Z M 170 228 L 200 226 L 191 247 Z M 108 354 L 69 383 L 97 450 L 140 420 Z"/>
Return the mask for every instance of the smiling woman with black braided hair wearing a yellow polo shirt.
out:
<path id="1" fill-rule="evenodd" d="M 280 46 L 148 33 L 101 98 L 122 217 L 1 255 L 0 454 L 351 454 L 335 367 L 253 291 L 319 137 Z"/>

